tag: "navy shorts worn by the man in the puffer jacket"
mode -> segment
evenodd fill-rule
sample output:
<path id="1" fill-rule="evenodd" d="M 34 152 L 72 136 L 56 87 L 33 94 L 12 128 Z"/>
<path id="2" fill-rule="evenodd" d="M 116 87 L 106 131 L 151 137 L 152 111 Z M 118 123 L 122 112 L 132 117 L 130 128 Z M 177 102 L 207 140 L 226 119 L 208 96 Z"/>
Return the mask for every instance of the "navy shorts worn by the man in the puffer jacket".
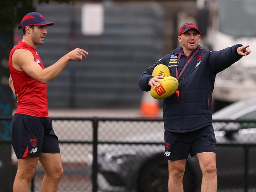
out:
<path id="1" fill-rule="evenodd" d="M 197 153 L 216 153 L 216 138 L 212 126 L 203 127 L 197 131 L 174 133 L 165 130 L 165 159 L 187 159 Z"/>

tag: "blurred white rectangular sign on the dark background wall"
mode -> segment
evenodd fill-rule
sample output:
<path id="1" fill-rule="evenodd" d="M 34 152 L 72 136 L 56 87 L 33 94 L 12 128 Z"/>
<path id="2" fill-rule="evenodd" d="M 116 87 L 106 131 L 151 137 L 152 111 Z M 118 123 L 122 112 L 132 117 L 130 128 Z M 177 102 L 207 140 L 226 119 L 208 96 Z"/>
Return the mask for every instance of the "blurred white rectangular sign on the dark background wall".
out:
<path id="1" fill-rule="evenodd" d="M 83 35 L 102 35 L 104 32 L 104 7 L 102 4 L 84 4 L 81 14 Z"/>

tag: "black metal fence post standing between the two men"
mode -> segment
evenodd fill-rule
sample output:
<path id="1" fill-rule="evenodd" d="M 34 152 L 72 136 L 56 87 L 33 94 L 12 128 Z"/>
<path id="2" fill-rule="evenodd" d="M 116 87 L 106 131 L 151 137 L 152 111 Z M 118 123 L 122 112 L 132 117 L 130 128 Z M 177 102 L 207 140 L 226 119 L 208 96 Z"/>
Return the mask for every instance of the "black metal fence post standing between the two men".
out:
<path id="1" fill-rule="evenodd" d="M 98 191 L 97 174 L 98 174 L 98 119 L 93 119 L 93 166 L 92 166 L 92 183 L 93 192 Z"/>

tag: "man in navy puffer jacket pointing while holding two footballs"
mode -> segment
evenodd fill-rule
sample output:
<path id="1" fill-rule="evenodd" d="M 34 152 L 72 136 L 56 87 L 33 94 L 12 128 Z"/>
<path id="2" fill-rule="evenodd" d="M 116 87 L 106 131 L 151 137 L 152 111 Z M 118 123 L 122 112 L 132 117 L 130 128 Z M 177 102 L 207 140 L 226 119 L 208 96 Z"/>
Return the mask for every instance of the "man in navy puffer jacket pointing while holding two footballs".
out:
<path id="1" fill-rule="evenodd" d="M 202 192 L 217 191 L 215 144 L 212 127 L 212 92 L 215 76 L 250 54 L 249 45 L 236 44 L 221 51 L 198 45 L 200 31 L 193 23 L 182 25 L 178 41 L 182 46 L 165 55 L 143 72 L 139 87 L 149 91 L 162 76 L 152 76 L 159 64 L 166 65 L 179 81 L 176 94 L 163 101 L 165 159 L 169 164 L 169 192 L 182 192 L 186 159 L 197 155 L 202 170 Z"/>

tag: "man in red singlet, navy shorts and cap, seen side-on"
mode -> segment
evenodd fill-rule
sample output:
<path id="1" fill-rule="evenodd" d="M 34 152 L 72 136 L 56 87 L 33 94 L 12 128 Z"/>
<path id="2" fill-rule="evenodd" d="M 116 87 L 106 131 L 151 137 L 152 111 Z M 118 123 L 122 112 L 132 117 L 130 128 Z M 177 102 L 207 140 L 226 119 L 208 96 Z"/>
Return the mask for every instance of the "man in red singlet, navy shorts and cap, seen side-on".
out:
<path id="1" fill-rule="evenodd" d="M 46 28 L 53 24 L 40 13 L 25 15 L 18 28 L 23 30 L 23 39 L 9 55 L 9 86 L 18 100 L 11 125 L 18 159 L 13 192 L 29 192 L 38 161 L 45 170 L 41 192 L 57 192 L 63 175 L 58 137 L 48 116 L 46 83 L 56 78 L 69 61 L 82 61 L 88 53 L 76 48 L 44 68 L 36 47 L 44 43 Z"/>

